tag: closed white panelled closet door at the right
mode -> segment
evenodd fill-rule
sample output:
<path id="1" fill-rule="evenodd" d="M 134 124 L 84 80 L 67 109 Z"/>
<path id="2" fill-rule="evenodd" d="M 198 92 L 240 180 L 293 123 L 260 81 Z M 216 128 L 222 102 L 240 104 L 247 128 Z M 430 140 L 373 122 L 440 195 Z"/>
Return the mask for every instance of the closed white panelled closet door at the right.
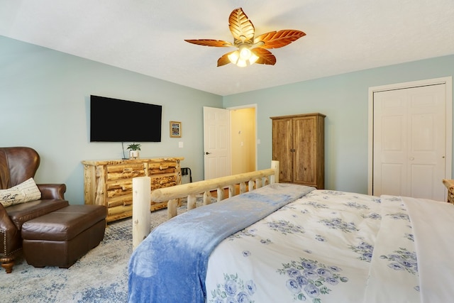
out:
<path id="1" fill-rule="evenodd" d="M 445 200 L 445 84 L 374 92 L 373 102 L 373 194 Z"/>

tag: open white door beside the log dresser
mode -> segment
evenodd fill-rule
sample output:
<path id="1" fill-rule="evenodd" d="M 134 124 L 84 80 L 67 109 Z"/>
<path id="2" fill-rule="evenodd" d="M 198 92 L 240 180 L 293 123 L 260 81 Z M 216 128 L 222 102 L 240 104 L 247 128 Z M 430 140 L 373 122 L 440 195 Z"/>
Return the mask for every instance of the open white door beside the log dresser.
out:
<path id="1" fill-rule="evenodd" d="M 204 106 L 204 179 L 230 175 L 230 111 Z"/>

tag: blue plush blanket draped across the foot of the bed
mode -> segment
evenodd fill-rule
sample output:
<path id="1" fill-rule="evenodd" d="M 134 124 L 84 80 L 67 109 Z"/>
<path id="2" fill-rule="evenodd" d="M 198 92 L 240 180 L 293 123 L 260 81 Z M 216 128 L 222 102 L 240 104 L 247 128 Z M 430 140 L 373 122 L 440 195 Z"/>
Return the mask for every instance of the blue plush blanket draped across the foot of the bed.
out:
<path id="1" fill-rule="evenodd" d="M 161 224 L 129 262 L 129 302 L 204 302 L 206 265 L 224 238 L 314 190 L 270 184 Z"/>

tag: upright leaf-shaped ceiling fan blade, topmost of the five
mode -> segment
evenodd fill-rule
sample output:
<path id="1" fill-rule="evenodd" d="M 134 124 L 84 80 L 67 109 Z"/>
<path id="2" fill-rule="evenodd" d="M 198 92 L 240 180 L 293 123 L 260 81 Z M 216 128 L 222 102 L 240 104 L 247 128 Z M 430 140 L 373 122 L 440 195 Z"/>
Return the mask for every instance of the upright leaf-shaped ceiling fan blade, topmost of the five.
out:
<path id="1" fill-rule="evenodd" d="M 228 28 L 234 38 L 234 44 L 253 43 L 255 28 L 243 9 L 234 9 L 228 18 Z"/>

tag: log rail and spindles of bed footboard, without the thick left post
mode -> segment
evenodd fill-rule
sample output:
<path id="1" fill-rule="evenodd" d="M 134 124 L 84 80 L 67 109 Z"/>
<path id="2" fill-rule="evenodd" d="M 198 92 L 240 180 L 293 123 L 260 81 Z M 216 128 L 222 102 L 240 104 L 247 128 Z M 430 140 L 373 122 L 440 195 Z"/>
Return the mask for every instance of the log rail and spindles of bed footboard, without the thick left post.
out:
<path id="1" fill-rule="evenodd" d="M 245 172 L 243 174 L 218 177 L 215 179 L 192 182 L 155 189 L 151 193 L 154 202 L 167 203 L 167 218 L 177 216 L 179 199 L 187 197 L 187 210 L 196 207 L 196 194 L 204 194 L 204 205 L 211 203 L 211 192 L 216 190 L 217 201 L 225 199 L 224 189 L 228 189 L 228 197 L 236 195 L 236 187 L 239 185 L 239 194 L 260 188 L 266 184 L 279 183 L 279 161 L 271 161 L 271 168 Z M 246 187 L 246 184 L 248 184 Z"/>

